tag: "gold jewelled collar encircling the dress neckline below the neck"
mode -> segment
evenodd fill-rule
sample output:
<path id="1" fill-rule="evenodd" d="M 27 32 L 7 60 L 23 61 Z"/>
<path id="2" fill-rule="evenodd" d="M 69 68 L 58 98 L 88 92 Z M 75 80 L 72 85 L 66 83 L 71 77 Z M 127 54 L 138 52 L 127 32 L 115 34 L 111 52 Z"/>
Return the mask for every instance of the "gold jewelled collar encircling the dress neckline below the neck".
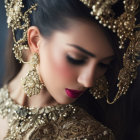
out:
<path id="1" fill-rule="evenodd" d="M 10 98 L 5 85 L 0 89 L 0 115 L 9 124 L 7 140 L 20 140 L 33 127 L 38 128 L 50 121 L 59 121 L 75 114 L 76 107 L 69 105 L 29 108 L 20 106 Z"/>

